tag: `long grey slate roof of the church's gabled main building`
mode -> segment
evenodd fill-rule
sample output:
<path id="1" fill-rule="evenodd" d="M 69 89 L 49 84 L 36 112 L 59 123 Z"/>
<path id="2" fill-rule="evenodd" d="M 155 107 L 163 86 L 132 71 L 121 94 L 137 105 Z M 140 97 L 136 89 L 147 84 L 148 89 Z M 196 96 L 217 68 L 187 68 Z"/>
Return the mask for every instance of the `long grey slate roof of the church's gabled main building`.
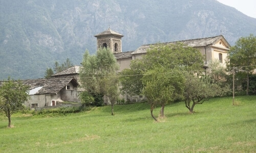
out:
<path id="1" fill-rule="evenodd" d="M 182 41 L 174 41 L 174 42 L 165 42 L 165 43 L 160 43 L 160 44 L 175 44 L 177 42 L 182 42 L 190 47 L 200 47 L 200 46 L 206 46 L 206 45 L 212 45 L 219 41 L 220 39 L 223 39 L 224 42 L 230 47 L 226 39 L 220 35 L 220 36 L 215 36 L 215 37 L 208 37 L 208 38 L 200 38 L 200 39 L 190 39 L 190 40 L 182 40 Z M 154 44 L 146 44 L 142 45 L 139 48 L 135 50 L 134 53 L 132 54 L 143 54 L 146 53 L 146 50 L 150 48 L 150 45 Z"/>

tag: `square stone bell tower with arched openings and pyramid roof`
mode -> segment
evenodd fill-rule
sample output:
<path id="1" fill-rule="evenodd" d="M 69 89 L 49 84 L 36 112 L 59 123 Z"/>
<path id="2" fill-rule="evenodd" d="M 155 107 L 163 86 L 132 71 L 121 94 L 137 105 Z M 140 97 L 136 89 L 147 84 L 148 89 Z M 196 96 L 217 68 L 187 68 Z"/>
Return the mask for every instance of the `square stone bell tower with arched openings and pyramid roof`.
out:
<path id="1" fill-rule="evenodd" d="M 97 38 L 97 49 L 100 47 L 110 48 L 113 53 L 122 52 L 122 40 L 123 35 L 114 32 L 110 28 L 102 33 L 95 35 Z"/>

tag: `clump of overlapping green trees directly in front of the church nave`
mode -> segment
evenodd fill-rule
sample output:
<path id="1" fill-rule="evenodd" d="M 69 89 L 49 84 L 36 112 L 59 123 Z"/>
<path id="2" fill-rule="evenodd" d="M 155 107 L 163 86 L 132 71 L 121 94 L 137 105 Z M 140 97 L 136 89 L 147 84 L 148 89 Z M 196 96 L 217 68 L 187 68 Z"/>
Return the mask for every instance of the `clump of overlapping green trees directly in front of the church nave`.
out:
<path id="1" fill-rule="evenodd" d="M 140 60 L 132 61 L 131 69 L 122 71 L 121 90 L 126 94 L 143 95 L 151 105 L 151 115 L 161 105 L 184 100 L 190 113 L 197 104 L 228 90 L 204 75 L 203 55 L 198 49 L 177 44 L 151 46 Z M 191 104 L 190 104 L 191 103 Z"/>

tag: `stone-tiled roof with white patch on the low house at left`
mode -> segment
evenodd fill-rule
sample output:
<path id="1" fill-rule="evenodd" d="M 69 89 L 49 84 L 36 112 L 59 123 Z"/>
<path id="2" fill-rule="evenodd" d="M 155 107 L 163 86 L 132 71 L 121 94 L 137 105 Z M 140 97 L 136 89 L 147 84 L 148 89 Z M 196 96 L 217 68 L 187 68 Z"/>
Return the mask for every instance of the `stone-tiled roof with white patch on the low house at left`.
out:
<path id="1" fill-rule="evenodd" d="M 76 79 L 60 78 L 60 79 L 28 79 L 21 80 L 24 85 L 29 86 L 29 93 L 32 94 L 56 94 L 62 88 L 66 87 L 70 82 L 74 87 L 78 86 Z M 5 81 L 0 81 L 0 86 Z"/>

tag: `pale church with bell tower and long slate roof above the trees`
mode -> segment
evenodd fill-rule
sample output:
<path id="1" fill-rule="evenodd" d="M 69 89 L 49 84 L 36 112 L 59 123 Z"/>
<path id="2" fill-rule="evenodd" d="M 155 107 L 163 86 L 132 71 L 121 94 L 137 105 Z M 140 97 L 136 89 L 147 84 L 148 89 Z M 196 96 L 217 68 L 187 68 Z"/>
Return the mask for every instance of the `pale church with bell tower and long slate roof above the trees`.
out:
<path id="1" fill-rule="evenodd" d="M 95 35 L 97 38 L 97 49 L 99 47 L 110 48 L 116 57 L 117 63 L 119 64 L 119 71 L 125 68 L 129 68 L 131 61 L 135 59 L 141 59 L 146 54 L 146 50 L 151 45 L 155 44 L 144 44 L 132 52 L 122 52 L 122 41 L 123 35 L 111 30 L 110 28 L 102 33 Z M 219 60 L 220 63 L 226 65 L 225 59 L 227 57 L 229 48 L 231 47 L 227 40 L 222 36 L 214 36 L 208 38 L 189 39 L 174 42 L 165 42 L 162 44 L 172 44 L 182 42 L 188 46 L 198 48 L 202 55 L 205 56 L 205 66 L 210 61 Z"/>

